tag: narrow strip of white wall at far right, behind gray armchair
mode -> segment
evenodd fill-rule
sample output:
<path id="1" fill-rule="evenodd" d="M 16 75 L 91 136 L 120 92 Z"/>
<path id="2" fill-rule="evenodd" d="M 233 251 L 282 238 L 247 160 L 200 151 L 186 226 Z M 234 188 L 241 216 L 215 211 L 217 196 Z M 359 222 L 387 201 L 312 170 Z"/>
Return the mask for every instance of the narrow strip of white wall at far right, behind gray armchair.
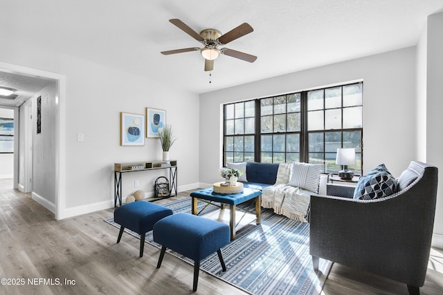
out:
<path id="1" fill-rule="evenodd" d="M 435 212 L 434 245 L 443 248 L 443 12 L 428 17 L 426 62 L 426 162 L 440 168 Z"/>

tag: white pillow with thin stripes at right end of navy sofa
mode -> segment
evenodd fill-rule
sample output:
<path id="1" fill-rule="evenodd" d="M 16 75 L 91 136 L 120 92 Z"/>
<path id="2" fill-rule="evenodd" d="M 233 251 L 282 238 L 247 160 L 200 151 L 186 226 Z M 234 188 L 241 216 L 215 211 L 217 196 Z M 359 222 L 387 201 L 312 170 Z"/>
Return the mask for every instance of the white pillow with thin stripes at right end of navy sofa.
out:
<path id="1" fill-rule="evenodd" d="M 289 185 L 318 193 L 321 165 L 293 162 Z"/>

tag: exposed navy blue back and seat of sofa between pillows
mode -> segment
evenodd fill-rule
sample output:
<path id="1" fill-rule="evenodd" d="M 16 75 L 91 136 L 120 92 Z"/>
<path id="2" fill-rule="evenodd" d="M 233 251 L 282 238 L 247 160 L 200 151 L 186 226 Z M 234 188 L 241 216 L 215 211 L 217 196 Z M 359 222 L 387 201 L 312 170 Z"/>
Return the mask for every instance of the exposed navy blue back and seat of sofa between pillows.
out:
<path id="1" fill-rule="evenodd" d="M 260 189 L 270 187 L 277 180 L 278 163 L 246 163 L 246 180 L 243 187 L 249 189 Z"/>

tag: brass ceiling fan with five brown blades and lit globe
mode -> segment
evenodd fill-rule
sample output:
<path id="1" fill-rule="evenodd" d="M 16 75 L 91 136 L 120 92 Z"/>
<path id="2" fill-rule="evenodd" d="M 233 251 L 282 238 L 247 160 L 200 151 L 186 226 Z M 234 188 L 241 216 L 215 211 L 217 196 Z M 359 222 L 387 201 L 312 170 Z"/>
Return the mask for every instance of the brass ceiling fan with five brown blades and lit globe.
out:
<path id="1" fill-rule="evenodd" d="M 186 23 L 183 23 L 180 19 L 170 19 L 170 23 L 177 26 L 177 28 L 183 30 L 192 38 L 199 41 L 204 45 L 204 48 L 191 47 L 191 48 L 182 48 L 176 50 L 168 50 L 162 51 L 163 55 L 173 55 L 176 53 L 187 53 L 189 51 L 199 51 L 201 55 L 205 59 L 205 70 L 213 70 L 214 69 L 214 59 L 219 57 L 219 55 L 228 55 L 230 57 L 235 57 L 237 59 L 242 59 L 244 61 L 254 62 L 257 59 L 254 55 L 248 55 L 247 53 L 242 53 L 237 50 L 229 49 L 229 48 L 218 48 L 218 46 L 228 44 L 230 41 L 234 41 L 239 37 L 243 37 L 250 32 L 253 32 L 253 28 L 248 23 L 242 23 L 237 28 L 233 28 L 224 35 L 221 35 L 221 32 L 216 29 L 205 29 L 200 33 L 192 30 Z"/>

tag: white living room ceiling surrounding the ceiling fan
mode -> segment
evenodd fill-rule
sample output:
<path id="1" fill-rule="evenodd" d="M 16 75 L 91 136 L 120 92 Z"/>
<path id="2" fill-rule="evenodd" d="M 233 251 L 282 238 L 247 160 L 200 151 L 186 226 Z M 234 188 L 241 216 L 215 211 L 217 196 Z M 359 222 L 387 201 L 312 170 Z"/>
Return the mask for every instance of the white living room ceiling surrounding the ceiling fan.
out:
<path id="1" fill-rule="evenodd" d="M 26 3 L 24 3 L 26 2 Z M 443 0 L 0 0 L 0 37 L 27 42 L 145 75 L 195 93 L 284 75 L 338 61 L 415 46 L 426 17 Z M 255 63 L 221 55 L 209 84 L 201 47 L 172 25 L 254 32 L 224 47 Z M 6 44 L 3 43 L 3 46 Z M 1 81 L 1 79 L 0 79 Z M 0 85 L 1 86 L 1 85 Z"/>

